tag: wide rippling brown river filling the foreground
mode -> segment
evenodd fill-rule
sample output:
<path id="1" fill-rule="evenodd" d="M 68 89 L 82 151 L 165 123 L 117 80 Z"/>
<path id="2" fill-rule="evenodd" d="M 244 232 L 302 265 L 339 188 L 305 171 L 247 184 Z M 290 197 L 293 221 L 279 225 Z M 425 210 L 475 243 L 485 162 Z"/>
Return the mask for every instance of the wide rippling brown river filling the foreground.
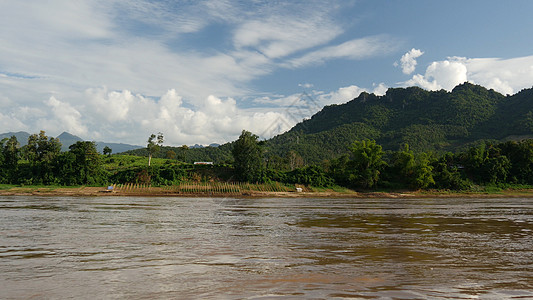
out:
<path id="1" fill-rule="evenodd" d="M 533 199 L 0 196 L 1 299 L 533 299 Z"/>

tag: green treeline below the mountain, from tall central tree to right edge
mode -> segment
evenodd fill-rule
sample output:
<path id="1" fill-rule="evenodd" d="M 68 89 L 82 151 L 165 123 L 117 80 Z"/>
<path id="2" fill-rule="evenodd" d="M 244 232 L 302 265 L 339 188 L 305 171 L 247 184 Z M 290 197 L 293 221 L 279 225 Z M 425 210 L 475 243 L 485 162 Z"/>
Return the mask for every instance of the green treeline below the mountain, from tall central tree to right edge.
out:
<path id="1" fill-rule="evenodd" d="M 285 169 L 265 160 L 261 147 L 258 137 L 246 131 L 235 143 L 235 172 L 240 180 L 336 184 L 365 190 L 468 190 L 479 185 L 533 185 L 533 140 L 484 142 L 466 151 L 438 155 L 415 153 L 408 144 L 397 151 L 384 151 L 376 141 L 366 139 L 353 142 L 349 154 L 321 165 L 301 164 L 290 170 L 287 160 Z"/>

